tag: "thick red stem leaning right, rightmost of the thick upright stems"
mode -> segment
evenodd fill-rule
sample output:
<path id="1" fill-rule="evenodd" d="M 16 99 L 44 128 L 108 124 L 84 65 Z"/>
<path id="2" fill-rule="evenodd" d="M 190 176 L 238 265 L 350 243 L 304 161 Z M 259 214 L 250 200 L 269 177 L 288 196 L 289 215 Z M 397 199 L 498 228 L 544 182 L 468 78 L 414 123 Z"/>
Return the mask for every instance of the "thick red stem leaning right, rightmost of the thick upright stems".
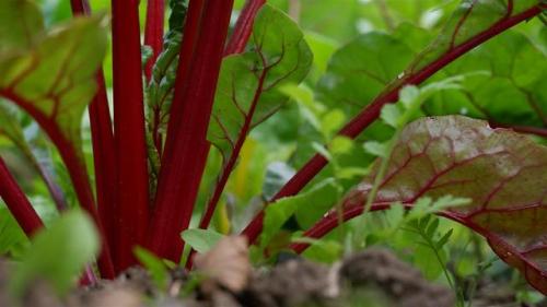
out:
<path id="1" fill-rule="evenodd" d="M 190 8 L 191 4 L 190 1 Z M 181 232 L 190 222 L 210 147 L 207 129 L 232 5 L 233 0 L 205 0 L 191 66 L 187 75 L 177 75 L 177 79 L 184 78 L 186 86 L 175 88 L 173 107 L 177 103 L 183 108 L 182 114 L 171 113 L 170 128 L 175 126 L 175 130 L 170 130 L 168 137 L 176 142 L 167 138 L 149 237 L 152 251 L 175 262 L 182 255 Z M 178 91 L 183 92 L 177 94 Z M 181 101 L 176 102 L 177 98 Z M 178 122 L 173 123 L 173 120 Z"/>

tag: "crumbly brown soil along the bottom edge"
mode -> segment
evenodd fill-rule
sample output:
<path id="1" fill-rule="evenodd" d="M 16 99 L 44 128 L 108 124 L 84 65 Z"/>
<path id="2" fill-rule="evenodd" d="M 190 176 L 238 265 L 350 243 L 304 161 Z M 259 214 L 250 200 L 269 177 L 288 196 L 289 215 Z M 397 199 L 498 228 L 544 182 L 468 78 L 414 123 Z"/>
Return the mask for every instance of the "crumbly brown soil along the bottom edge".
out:
<path id="1" fill-rule="evenodd" d="M 241 262 L 245 261 L 245 263 Z M 248 258 L 247 258 L 248 259 Z M 447 287 L 431 284 L 407 263 L 384 249 L 369 249 L 333 265 L 290 259 L 270 269 L 253 270 L 248 260 L 229 257 L 223 263 L 203 260 L 196 279 L 184 270 L 171 272 L 168 286 L 160 291 L 148 272 L 126 271 L 115 281 L 74 290 L 59 299 L 47 284 L 36 282 L 22 304 L 9 300 L 9 269 L 0 265 L 0 306 L 22 307 L 453 307 Z M 209 261 L 209 263 L 207 263 Z M 240 261 L 240 263 L 235 263 Z M 232 263 L 231 263 L 232 262 Z M 219 264 L 222 264 L 219 265 Z M 228 267 L 228 274 L 207 265 Z M 214 268 L 213 268 L 214 269 Z M 197 281 L 197 282 L 196 282 Z M 234 282 L 236 281 L 236 282 Z M 3 290 L 3 291 L 2 291 Z M 489 292 L 493 293 L 493 292 Z M 499 299 L 499 300 L 496 300 Z M 509 303 L 507 303 L 509 302 Z M 512 300 L 514 302 L 514 300 Z M 507 303 L 507 304 L 505 304 Z M 486 304 L 486 305 L 485 305 Z M 516 307 L 508 297 L 476 300 L 477 307 Z"/>

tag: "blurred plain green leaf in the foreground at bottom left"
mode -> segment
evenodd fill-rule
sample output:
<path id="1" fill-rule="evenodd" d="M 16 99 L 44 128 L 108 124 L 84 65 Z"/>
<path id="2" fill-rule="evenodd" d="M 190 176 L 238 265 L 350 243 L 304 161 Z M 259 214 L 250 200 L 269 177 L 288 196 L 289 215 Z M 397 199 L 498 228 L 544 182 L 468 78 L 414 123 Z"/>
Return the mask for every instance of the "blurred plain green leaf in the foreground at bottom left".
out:
<path id="1" fill-rule="evenodd" d="M 93 221 L 81 211 L 68 212 L 35 236 L 13 273 L 10 290 L 20 296 L 33 282 L 47 281 L 57 294 L 66 294 L 98 248 Z"/>

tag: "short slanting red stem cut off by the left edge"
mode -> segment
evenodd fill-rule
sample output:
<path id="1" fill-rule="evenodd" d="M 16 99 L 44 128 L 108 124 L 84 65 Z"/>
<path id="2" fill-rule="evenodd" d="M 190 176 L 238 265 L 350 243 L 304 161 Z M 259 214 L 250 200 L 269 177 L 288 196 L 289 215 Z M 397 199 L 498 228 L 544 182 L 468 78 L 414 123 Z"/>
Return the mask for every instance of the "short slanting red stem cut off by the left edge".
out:
<path id="1" fill-rule="evenodd" d="M 0 197 L 23 232 L 32 237 L 44 223 L 0 157 Z"/>

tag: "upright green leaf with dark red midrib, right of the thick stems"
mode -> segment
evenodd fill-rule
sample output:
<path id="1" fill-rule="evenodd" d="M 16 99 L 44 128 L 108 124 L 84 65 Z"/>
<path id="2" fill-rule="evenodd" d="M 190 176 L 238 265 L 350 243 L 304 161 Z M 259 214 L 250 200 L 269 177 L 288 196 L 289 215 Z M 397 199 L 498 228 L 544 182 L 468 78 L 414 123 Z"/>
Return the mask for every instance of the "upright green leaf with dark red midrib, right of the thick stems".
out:
<path id="1" fill-rule="evenodd" d="M 223 60 L 217 87 L 208 140 L 224 163 L 252 128 L 287 102 L 279 88 L 302 81 L 312 64 L 298 25 L 268 4 L 255 20 L 249 44 L 249 51 Z"/>

